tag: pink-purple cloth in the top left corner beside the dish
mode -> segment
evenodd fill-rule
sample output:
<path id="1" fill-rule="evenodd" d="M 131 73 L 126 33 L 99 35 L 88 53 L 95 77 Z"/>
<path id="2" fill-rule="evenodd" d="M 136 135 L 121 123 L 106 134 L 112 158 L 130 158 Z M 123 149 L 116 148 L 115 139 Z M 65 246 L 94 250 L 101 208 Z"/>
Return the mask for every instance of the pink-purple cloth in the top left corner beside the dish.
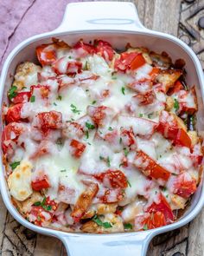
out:
<path id="1" fill-rule="evenodd" d="M 75 0 L 0 0 L 0 70 L 6 56 L 29 36 L 54 30 Z"/>

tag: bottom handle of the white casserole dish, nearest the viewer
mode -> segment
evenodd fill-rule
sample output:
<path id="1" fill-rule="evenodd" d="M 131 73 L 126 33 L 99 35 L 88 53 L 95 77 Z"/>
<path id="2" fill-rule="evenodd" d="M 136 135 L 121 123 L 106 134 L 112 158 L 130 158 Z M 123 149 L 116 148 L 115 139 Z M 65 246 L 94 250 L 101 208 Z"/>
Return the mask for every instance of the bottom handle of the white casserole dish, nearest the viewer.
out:
<path id="1" fill-rule="evenodd" d="M 145 256 L 150 233 L 67 234 L 59 237 L 68 256 Z"/>

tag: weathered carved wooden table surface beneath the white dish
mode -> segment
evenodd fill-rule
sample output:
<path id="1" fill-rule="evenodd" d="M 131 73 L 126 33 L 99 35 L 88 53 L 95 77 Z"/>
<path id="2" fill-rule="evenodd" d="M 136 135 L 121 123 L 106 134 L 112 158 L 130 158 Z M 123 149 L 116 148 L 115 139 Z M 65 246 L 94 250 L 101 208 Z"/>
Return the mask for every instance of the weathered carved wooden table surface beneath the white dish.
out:
<path id="1" fill-rule="evenodd" d="M 13 2 L 16 3 L 16 1 Z M 28 0 L 28 2 L 30 2 L 29 13 L 32 13 L 32 9 L 35 8 L 36 4 L 40 3 L 40 8 L 43 8 L 43 4 L 46 1 Z M 65 1 L 62 0 L 56 2 L 57 4 L 62 4 L 62 2 L 65 4 Z M 140 19 L 146 27 L 181 38 L 194 49 L 204 67 L 204 30 L 198 25 L 199 23 L 204 25 L 204 18 L 202 19 L 202 16 L 204 16 L 204 0 L 136 0 L 132 2 L 137 5 Z M 22 1 L 18 3 L 22 3 Z M 28 10 L 25 10 L 25 12 Z M 21 15 L 22 23 L 26 15 L 23 12 Z M 38 19 L 36 19 L 37 22 Z M 16 32 L 19 26 L 20 23 L 16 25 L 12 36 L 9 36 L 9 40 L 16 36 L 15 33 L 19 33 Z M 57 27 L 57 23 L 55 27 Z M 34 233 L 21 226 L 10 216 L 10 213 L 7 212 L 3 205 L 2 199 L 0 200 L 0 255 L 66 255 L 61 241 Z M 188 225 L 175 231 L 164 233 L 152 240 L 148 256 L 158 255 L 204 255 L 204 210 Z"/>

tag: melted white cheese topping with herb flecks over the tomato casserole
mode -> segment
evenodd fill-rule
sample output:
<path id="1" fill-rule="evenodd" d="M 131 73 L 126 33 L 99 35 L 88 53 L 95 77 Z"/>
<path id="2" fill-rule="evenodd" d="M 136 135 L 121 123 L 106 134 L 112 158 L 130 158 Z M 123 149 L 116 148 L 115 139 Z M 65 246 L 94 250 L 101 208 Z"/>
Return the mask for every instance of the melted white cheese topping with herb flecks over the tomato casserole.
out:
<path id="1" fill-rule="evenodd" d="M 74 224 L 72 215 L 92 183 L 97 184 L 97 192 L 83 214 L 92 218 L 99 204 L 112 203 L 114 212 L 105 213 L 101 221 L 116 224 L 109 232 L 120 232 L 125 229 L 123 222 L 134 226 L 137 217 L 147 216 L 150 206 L 161 203 L 161 197 L 172 210 L 183 208 L 187 197 L 179 194 L 187 192 L 176 187 L 177 177 L 184 172 L 189 182 L 199 179 L 198 166 L 192 160 L 201 155 L 199 143 L 192 154 L 166 134 L 156 132 L 161 113 L 168 116 L 163 121 L 173 122 L 174 118 L 163 111 L 167 95 L 151 76 L 153 66 L 145 62 L 136 70 L 117 71 L 114 61 L 119 55 L 115 53 L 110 61 L 108 54 L 57 48 L 54 63 L 41 68 L 26 62 L 16 70 L 13 85 L 21 84 L 18 92 L 29 92 L 31 85 L 35 88 L 31 88 L 30 100 L 22 103 L 20 120 L 16 120 L 22 122 L 23 129 L 13 129 L 4 141 L 5 147 L 10 147 L 8 161 L 21 161 L 9 174 L 10 194 L 23 201 L 34 189 L 54 200 L 59 207 L 55 213 L 51 207 L 56 221 L 52 225 L 57 228 L 70 225 L 75 231 L 93 232 L 92 223 Z M 173 97 L 178 99 L 178 95 Z M 192 93 L 183 96 L 184 101 L 194 107 Z M 172 108 L 171 112 L 176 111 Z M 147 159 L 137 159 L 138 152 Z M 156 168 L 160 168 L 158 178 L 151 174 Z M 167 180 L 158 174 L 162 171 L 168 172 Z M 116 206 L 124 209 L 121 217 L 115 214 Z M 41 207 L 40 217 L 32 210 L 27 214 L 30 221 L 37 225 L 45 221 L 46 226 L 51 221 L 50 210 Z M 106 230 L 101 227 L 94 232 Z"/>

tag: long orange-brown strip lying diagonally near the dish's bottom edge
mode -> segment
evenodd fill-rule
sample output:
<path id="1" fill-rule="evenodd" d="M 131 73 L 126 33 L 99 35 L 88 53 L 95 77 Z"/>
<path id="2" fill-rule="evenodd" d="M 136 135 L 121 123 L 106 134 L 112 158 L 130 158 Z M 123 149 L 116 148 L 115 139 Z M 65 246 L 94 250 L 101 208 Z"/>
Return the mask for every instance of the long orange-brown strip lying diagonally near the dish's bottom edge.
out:
<path id="1" fill-rule="evenodd" d="M 86 213 L 86 210 L 91 206 L 92 200 L 99 191 L 99 186 L 96 183 L 89 183 L 86 190 L 80 194 L 76 204 L 73 207 L 71 216 L 75 222 L 79 222 L 80 219 Z"/>

